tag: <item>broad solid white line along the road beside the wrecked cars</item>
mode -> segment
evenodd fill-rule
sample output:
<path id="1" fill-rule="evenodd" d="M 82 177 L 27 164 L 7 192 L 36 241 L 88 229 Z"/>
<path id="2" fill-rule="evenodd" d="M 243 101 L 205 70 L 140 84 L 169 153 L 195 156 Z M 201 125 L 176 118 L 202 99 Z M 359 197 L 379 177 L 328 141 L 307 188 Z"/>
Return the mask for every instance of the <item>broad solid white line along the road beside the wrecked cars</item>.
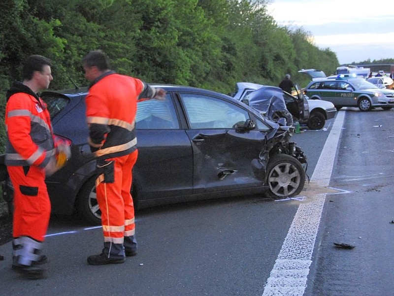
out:
<path id="1" fill-rule="evenodd" d="M 337 113 L 311 178 L 311 181 L 322 187 L 329 185 L 345 113 Z M 326 195 L 327 193 L 317 194 L 313 201 L 301 202 L 298 206 L 267 279 L 263 296 L 304 294 Z"/>

